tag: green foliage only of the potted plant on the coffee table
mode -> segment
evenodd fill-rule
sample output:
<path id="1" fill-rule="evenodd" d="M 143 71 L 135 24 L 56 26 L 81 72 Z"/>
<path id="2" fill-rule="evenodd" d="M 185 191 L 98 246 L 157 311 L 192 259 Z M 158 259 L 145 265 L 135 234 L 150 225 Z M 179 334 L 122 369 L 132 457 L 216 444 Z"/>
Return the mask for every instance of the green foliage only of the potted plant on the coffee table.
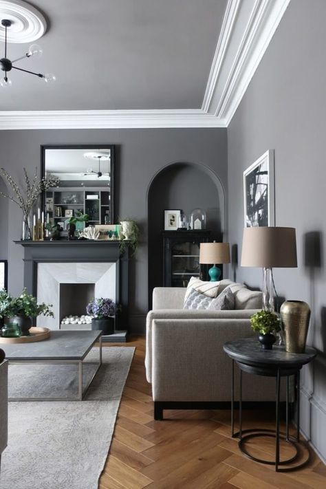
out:
<path id="1" fill-rule="evenodd" d="M 0 303 L 1 315 L 3 316 L 13 317 L 23 315 L 36 317 L 40 314 L 43 314 L 43 316 L 52 316 L 52 318 L 54 317 L 54 314 L 50 309 L 50 307 L 52 307 L 52 304 L 38 304 L 36 297 L 32 296 L 32 294 L 28 294 L 25 288 L 23 289 L 23 292 L 21 292 L 21 295 L 18 297 L 12 298 L 8 294 L 7 298 L 4 298 L 3 302 L 1 296 L 0 300 L 3 304 L 2 310 Z"/>

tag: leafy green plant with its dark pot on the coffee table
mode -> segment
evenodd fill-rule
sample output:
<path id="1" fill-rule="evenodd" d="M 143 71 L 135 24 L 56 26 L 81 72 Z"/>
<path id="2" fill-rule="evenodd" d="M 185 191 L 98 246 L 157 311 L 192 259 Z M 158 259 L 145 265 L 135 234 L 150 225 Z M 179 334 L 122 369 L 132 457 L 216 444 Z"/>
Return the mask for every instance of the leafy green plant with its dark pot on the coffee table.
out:
<path id="1" fill-rule="evenodd" d="M 5 306 L 5 303 L 2 303 Z M 36 316 L 52 316 L 54 317 L 52 310 L 52 304 L 41 303 L 38 304 L 36 297 L 32 294 L 28 294 L 27 290 L 24 288 L 21 295 L 12 298 L 9 294 L 6 298 L 6 306 L 1 309 L 1 315 L 6 316 L 10 319 L 10 323 L 17 323 L 21 328 L 22 336 L 30 335 L 30 327 L 32 327 L 32 318 Z"/>

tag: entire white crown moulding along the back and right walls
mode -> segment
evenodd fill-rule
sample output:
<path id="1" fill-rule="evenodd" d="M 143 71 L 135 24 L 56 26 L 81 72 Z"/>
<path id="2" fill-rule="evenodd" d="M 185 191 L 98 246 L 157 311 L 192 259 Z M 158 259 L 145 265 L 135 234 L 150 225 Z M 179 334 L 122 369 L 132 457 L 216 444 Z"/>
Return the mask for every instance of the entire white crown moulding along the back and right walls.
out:
<path id="1" fill-rule="evenodd" d="M 0 130 L 228 127 L 289 3 L 228 0 L 202 109 L 0 111 Z"/>

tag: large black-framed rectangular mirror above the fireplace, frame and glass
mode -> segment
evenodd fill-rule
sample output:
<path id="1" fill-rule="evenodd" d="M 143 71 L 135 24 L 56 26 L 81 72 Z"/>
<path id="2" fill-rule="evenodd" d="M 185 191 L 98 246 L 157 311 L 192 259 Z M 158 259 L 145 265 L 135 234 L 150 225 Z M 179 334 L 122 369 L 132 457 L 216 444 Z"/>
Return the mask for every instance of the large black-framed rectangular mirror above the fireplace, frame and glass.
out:
<path id="1" fill-rule="evenodd" d="M 42 176 L 60 179 L 43 195 L 47 220 L 65 226 L 69 217 L 89 216 L 88 225 L 114 224 L 114 146 L 41 146 Z"/>

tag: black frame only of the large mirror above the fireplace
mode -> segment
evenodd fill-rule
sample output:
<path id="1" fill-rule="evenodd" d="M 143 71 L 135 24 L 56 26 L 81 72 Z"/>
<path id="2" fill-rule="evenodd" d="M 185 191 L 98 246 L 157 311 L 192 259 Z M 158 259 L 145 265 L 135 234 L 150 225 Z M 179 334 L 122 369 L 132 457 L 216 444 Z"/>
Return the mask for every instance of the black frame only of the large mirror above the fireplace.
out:
<path id="1" fill-rule="evenodd" d="M 114 179 L 114 166 L 116 164 L 116 145 L 115 144 L 41 144 L 41 178 L 45 177 L 45 151 L 47 149 L 109 149 L 111 151 L 111 166 L 110 166 L 110 219 L 111 224 L 115 223 L 115 179 Z M 41 208 L 45 209 L 45 195 L 41 195 Z"/>

